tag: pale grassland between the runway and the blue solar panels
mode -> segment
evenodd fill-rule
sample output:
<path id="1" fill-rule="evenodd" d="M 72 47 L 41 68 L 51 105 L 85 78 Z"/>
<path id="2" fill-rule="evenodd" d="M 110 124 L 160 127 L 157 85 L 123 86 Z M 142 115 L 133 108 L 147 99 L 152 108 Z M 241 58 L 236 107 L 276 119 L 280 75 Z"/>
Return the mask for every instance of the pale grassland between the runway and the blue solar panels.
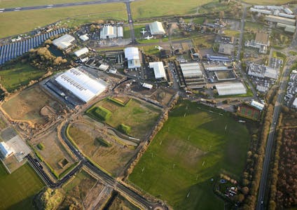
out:
<path id="1" fill-rule="evenodd" d="M 76 25 L 102 19 L 125 20 L 127 12 L 125 4 L 109 3 L 1 13 L 0 38 L 31 31 L 65 18 L 73 18 L 71 25 Z"/>

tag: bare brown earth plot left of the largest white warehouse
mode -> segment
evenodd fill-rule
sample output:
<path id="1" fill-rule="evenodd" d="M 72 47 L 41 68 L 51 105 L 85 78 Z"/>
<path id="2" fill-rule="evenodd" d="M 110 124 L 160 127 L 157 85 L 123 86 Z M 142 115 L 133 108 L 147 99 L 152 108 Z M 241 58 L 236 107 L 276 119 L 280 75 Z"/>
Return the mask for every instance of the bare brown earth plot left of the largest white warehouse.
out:
<path id="1" fill-rule="evenodd" d="M 34 85 L 4 102 L 1 109 L 13 120 L 43 125 L 46 116 L 55 116 L 62 110 L 62 105 L 51 99 L 39 85 Z"/>

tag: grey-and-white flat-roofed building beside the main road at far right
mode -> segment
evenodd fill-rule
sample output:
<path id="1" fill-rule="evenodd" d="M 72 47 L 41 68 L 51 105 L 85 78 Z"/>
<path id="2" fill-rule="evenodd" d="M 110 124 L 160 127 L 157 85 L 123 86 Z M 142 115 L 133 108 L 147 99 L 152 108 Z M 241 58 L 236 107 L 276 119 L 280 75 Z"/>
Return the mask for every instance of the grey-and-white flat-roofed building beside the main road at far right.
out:
<path id="1" fill-rule="evenodd" d="M 279 75 L 278 69 L 272 69 L 268 66 L 251 63 L 249 64 L 249 76 L 255 76 L 258 78 L 271 78 L 276 80 Z"/>

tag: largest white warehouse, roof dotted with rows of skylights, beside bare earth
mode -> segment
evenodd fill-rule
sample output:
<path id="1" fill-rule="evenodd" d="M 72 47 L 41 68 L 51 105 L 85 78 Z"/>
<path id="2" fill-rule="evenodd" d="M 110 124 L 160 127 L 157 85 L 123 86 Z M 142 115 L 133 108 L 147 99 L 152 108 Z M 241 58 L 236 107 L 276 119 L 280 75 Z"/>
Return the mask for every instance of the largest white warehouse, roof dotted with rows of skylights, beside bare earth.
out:
<path id="1" fill-rule="evenodd" d="M 55 80 L 85 103 L 106 89 L 106 83 L 103 80 L 90 78 L 90 76 L 76 68 L 62 73 Z"/>

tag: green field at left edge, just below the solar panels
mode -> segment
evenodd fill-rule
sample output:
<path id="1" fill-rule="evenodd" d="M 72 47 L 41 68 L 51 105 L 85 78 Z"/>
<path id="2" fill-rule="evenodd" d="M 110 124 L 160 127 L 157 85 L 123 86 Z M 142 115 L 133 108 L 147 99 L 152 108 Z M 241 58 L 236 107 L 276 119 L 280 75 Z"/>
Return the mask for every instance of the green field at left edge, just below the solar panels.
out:
<path id="1" fill-rule="evenodd" d="M 27 85 L 30 80 L 41 78 L 45 72 L 29 64 L 15 64 L 13 68 L 0 71 L 0 83 L 8 92 Z"/>

